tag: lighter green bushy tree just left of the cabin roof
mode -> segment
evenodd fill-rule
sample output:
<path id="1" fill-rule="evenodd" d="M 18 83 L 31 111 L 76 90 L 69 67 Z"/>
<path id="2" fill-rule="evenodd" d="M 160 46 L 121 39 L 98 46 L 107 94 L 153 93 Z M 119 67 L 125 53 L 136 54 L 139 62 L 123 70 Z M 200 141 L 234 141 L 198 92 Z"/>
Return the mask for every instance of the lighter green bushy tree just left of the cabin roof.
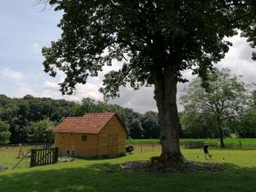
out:
<path id="1" fill-rule="evenodd" d="M 54 142 L 55 125 L 48 119 L 32 123 L 33 143 L 52 143 Z"/>

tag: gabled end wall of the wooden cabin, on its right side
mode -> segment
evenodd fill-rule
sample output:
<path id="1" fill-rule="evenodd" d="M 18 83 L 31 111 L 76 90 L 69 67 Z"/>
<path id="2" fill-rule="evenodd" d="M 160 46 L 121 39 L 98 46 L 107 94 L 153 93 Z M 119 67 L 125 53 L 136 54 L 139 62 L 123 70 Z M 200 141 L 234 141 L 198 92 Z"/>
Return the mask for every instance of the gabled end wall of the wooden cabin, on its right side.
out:
<path id="1" fill-rule="evenodd" d="M 109 155 L 110 153 L 110 144 L 109 137 L 117 137 L 118 147 L 114 149 L 113 156 L 125 152 L 125 141 L 126 141 L 126 133 L 123 128 L 123 125 L 120 123 L 118 117 L 116 115 L 113 116 L 112 119 L 108 121 L 108 123 L 103 127 L 102 131 L 99 135 L 99 144 L 98 144 L 98 155 Z"/>

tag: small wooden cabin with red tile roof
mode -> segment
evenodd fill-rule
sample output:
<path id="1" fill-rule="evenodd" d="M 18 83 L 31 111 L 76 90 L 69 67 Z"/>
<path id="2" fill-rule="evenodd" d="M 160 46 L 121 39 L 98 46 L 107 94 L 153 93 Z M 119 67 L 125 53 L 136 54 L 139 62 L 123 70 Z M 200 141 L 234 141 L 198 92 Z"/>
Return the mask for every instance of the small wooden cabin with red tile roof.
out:
<path id="1" fill-rule="evenodd" d="M 116 113 L 86 113 L 67 117 L 55 127 L 55 146 L 61 155 L 119 156 L 125 152 L 127 131 Z"/>

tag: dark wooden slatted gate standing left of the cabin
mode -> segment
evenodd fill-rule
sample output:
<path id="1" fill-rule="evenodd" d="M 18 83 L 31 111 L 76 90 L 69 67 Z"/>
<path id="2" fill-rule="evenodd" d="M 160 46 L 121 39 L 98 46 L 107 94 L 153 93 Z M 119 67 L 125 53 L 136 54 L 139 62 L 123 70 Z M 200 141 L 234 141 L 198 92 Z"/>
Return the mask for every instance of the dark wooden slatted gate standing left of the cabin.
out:
<path id="1" fill-rule="evenodd" d="M 30 167 L 54 164 L 58 161 L 58 148 L 32 148 Z"/>

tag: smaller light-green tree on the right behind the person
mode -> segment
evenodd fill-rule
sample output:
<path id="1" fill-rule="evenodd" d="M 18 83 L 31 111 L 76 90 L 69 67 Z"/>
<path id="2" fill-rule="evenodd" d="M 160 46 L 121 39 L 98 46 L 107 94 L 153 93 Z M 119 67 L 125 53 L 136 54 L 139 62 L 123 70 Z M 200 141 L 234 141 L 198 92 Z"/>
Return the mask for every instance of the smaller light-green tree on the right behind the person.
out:
<path id="1" fill-rule="evenodd" d="M 216 125 L 220 145 L 224 148 L 224 123 L 237 117 L 246 107 L 246 86 L 236 75 L 230 75 L 230 70 L 216 69 L 209 73 L 207 90 L 201 87 L 200 78 L 194 79 L 185 95 L 181 96 L 181 101 L 185 113 L 192 114 L 190 118 L 196 121 L 195 127 L 198 124 L 203 126 L 206 121 L 211 122 L 212 127 Z"/>

